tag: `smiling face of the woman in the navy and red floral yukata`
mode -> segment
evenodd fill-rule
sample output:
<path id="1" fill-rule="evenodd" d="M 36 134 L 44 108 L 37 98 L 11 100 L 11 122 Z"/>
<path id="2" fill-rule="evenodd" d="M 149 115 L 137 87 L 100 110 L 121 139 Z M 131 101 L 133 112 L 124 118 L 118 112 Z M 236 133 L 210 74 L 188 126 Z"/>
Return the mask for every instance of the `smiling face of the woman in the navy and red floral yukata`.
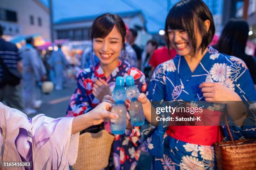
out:
<path id="1" fill-rule="evenodd" d="M 100 62 L 108 65 L 119 60 L 123 42 L 120 32 L 114 26 L 104 38 L 93 38 L 93 51 Z"/>

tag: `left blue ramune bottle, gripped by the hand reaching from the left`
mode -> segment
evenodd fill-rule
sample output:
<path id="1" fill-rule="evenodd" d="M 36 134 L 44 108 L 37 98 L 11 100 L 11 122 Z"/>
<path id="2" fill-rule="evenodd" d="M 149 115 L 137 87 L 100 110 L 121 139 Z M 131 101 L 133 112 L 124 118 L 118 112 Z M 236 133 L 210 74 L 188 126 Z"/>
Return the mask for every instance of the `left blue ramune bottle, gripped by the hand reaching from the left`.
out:
<path id="1" fill-rule="evenodd" d="M 111 132 L 113 134 L 124 134 L 126 129 L 126 107 L 124 105 L 126 99 L 126 92 L 124 88 L 124 78 L 117 77 L 115 80 L 115 88 L 113 90 L 113 100 L 115 105 L 111 112 L 118 115 L 118 119 L 111 119 Z"/>

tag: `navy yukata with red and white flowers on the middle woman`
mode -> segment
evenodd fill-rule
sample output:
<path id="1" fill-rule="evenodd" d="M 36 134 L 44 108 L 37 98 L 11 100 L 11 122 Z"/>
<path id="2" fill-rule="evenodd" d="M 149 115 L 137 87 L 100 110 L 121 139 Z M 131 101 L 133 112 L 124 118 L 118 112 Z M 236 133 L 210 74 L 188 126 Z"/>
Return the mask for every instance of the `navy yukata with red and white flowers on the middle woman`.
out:
<path id="1" fill-rule="evenodd" d="M 100 67 L 100 62 L 95 67 L 81 70 L 77 75 L 77 88 L 71 97 L 67 109 L 67 117 L 82 115 L 100 103 L 100 100 L 92 94 L 93 80 L 95 78 L 100 77 L 105 80 L 110 86 L 111 91 L 113 91 L 115 78 L 118 76 L 125 78 L 127 75 L 134 77 L 135 84 L 140 92 L 146 92 L 147 84 L 145 82 L 145 75 L 137 68 L 131 67 L 126 61 L 120 60 L 109 77 L 105 77 Z M 133 127 L 132 130 L 126 130 L 125 135 L 115 135 L 112 146 L 113 152 L 110 154 L 110 169 L 111 165 L 112 167 L 114 165 L 115 170 L 135 169 L 140 155 L 140 150 L 138 150 L 140 136 L 140 127 Z"/>

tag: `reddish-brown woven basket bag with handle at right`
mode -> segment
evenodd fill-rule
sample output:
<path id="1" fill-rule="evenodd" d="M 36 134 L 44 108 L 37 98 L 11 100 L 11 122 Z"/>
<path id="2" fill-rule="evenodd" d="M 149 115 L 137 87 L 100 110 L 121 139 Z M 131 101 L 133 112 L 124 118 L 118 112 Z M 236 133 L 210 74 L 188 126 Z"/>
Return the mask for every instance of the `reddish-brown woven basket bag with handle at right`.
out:
<path id="1" fill-rule="evenodd" d="M 256 139 L 233 140 L 225 124 L 231 141 L 214 144 L 218 170 L 256 170 Z"/>

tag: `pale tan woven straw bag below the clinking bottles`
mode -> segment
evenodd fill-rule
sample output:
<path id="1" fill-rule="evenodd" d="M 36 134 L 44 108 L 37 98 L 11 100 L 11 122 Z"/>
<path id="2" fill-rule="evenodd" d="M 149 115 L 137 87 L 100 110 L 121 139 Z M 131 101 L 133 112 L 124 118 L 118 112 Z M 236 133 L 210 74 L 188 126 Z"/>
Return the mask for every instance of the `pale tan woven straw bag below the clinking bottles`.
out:
<path id="1" fill-rule="evenodd" d="M 106 168 L 114 138 L 115 136 L 106 130 L 80 135 L 77 162 L 72 168 L 74 170 L 101 170 Z"/>

